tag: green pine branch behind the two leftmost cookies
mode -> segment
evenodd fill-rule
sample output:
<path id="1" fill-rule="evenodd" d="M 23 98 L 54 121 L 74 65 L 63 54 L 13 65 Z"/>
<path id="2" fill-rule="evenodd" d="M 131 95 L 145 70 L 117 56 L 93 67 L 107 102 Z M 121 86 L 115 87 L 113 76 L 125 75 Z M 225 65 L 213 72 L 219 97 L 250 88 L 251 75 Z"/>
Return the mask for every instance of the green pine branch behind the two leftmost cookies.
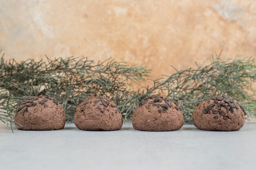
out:
<path id="1" fill-rule="evenodd" d="M 132 85 L 144 81 L 149 73 L 143 66 L 128 66 L 111 59 L 97 63 L 77 57 L 50 60 L 46 56 L 46 59 L 46 62 L 29 59 L 18 63 L 2 57 L 0 87 L 10 93 L 11 100 L 30 95 L 54 97 L 62 104 L 68 121 L 73 120 L 75 108 L 85 98 L 129 95 Z"/>

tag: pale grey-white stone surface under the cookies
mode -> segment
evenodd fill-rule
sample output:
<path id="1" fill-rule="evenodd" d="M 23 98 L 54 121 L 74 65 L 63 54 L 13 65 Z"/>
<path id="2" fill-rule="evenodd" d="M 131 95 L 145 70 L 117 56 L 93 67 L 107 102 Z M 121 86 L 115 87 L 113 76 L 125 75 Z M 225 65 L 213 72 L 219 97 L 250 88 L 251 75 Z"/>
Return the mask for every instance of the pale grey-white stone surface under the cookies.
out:
<path id="1" fill-rule="evenodd" d="M 255 170 L 256 123 L 236 132 L 22 131 L 0 124 L 1 170 Z"/>

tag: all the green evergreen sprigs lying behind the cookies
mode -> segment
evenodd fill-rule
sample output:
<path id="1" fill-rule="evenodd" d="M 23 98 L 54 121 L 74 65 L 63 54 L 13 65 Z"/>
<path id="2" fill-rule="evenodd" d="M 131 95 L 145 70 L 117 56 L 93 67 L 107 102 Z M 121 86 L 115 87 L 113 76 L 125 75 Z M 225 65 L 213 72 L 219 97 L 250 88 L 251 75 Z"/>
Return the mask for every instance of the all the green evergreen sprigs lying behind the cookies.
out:
<path id="1" fill-rule="evenodd" d="M 152 94 L 162 94 L 180 104 L 186 123 L 192 122 L 197 103 L 213 95 L 232 97 L 250 117 L 256 118 L 255 91 L 252 88 L 256 81 L 256 66 L 252 58 L 230 60 L 221 59 L 220 54 L 211 56 L 209 65 L 196 64 L 197 68 L 176 70 L 170 76 L 151 80 L 152 86 L 138 90 L 132 85 L 145 83 L 150 73 L 143 66 L 128 66 L 110 59 L 97 63 L 76 57 L 46 59 L 16 62 L 1 58 L 0 88 L 9 95 L 0 98 L 0 109 L 4 110 L 0 120 L 13 123 L 20 100 L 31 95 L 58 99 L 68 121 L 73 120 L 75 108 L 85 98 L 101 95 L 116 102 L 123 117 L 128 119 L 138 103 Z"/>

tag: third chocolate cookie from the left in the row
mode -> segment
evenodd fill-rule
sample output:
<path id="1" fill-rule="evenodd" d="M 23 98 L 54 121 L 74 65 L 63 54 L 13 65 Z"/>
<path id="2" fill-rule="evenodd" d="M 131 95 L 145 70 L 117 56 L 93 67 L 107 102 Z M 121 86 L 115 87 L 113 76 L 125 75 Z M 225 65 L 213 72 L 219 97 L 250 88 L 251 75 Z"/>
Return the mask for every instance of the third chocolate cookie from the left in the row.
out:
<path id="1" fill-rule="evenodd" d="M 132 126 L 137 130 L 171 131 L 183 126 L 180 106 L 160 95 L 146 97 L 135 108 Z"/>

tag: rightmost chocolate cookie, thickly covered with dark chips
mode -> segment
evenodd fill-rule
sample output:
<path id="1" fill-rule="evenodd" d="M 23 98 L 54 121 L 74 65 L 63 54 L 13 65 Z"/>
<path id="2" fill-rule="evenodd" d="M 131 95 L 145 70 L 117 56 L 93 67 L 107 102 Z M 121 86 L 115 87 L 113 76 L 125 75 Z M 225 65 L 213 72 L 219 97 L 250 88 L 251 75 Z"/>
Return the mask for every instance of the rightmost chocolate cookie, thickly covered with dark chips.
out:
<path id="1" fill-rule="evenodd" d="M 192 117 L 198 129 L 234 131 L 243 127 L 245 115 L 243 107 L 232 99 L 214 96 L 200 102 Z"/>

